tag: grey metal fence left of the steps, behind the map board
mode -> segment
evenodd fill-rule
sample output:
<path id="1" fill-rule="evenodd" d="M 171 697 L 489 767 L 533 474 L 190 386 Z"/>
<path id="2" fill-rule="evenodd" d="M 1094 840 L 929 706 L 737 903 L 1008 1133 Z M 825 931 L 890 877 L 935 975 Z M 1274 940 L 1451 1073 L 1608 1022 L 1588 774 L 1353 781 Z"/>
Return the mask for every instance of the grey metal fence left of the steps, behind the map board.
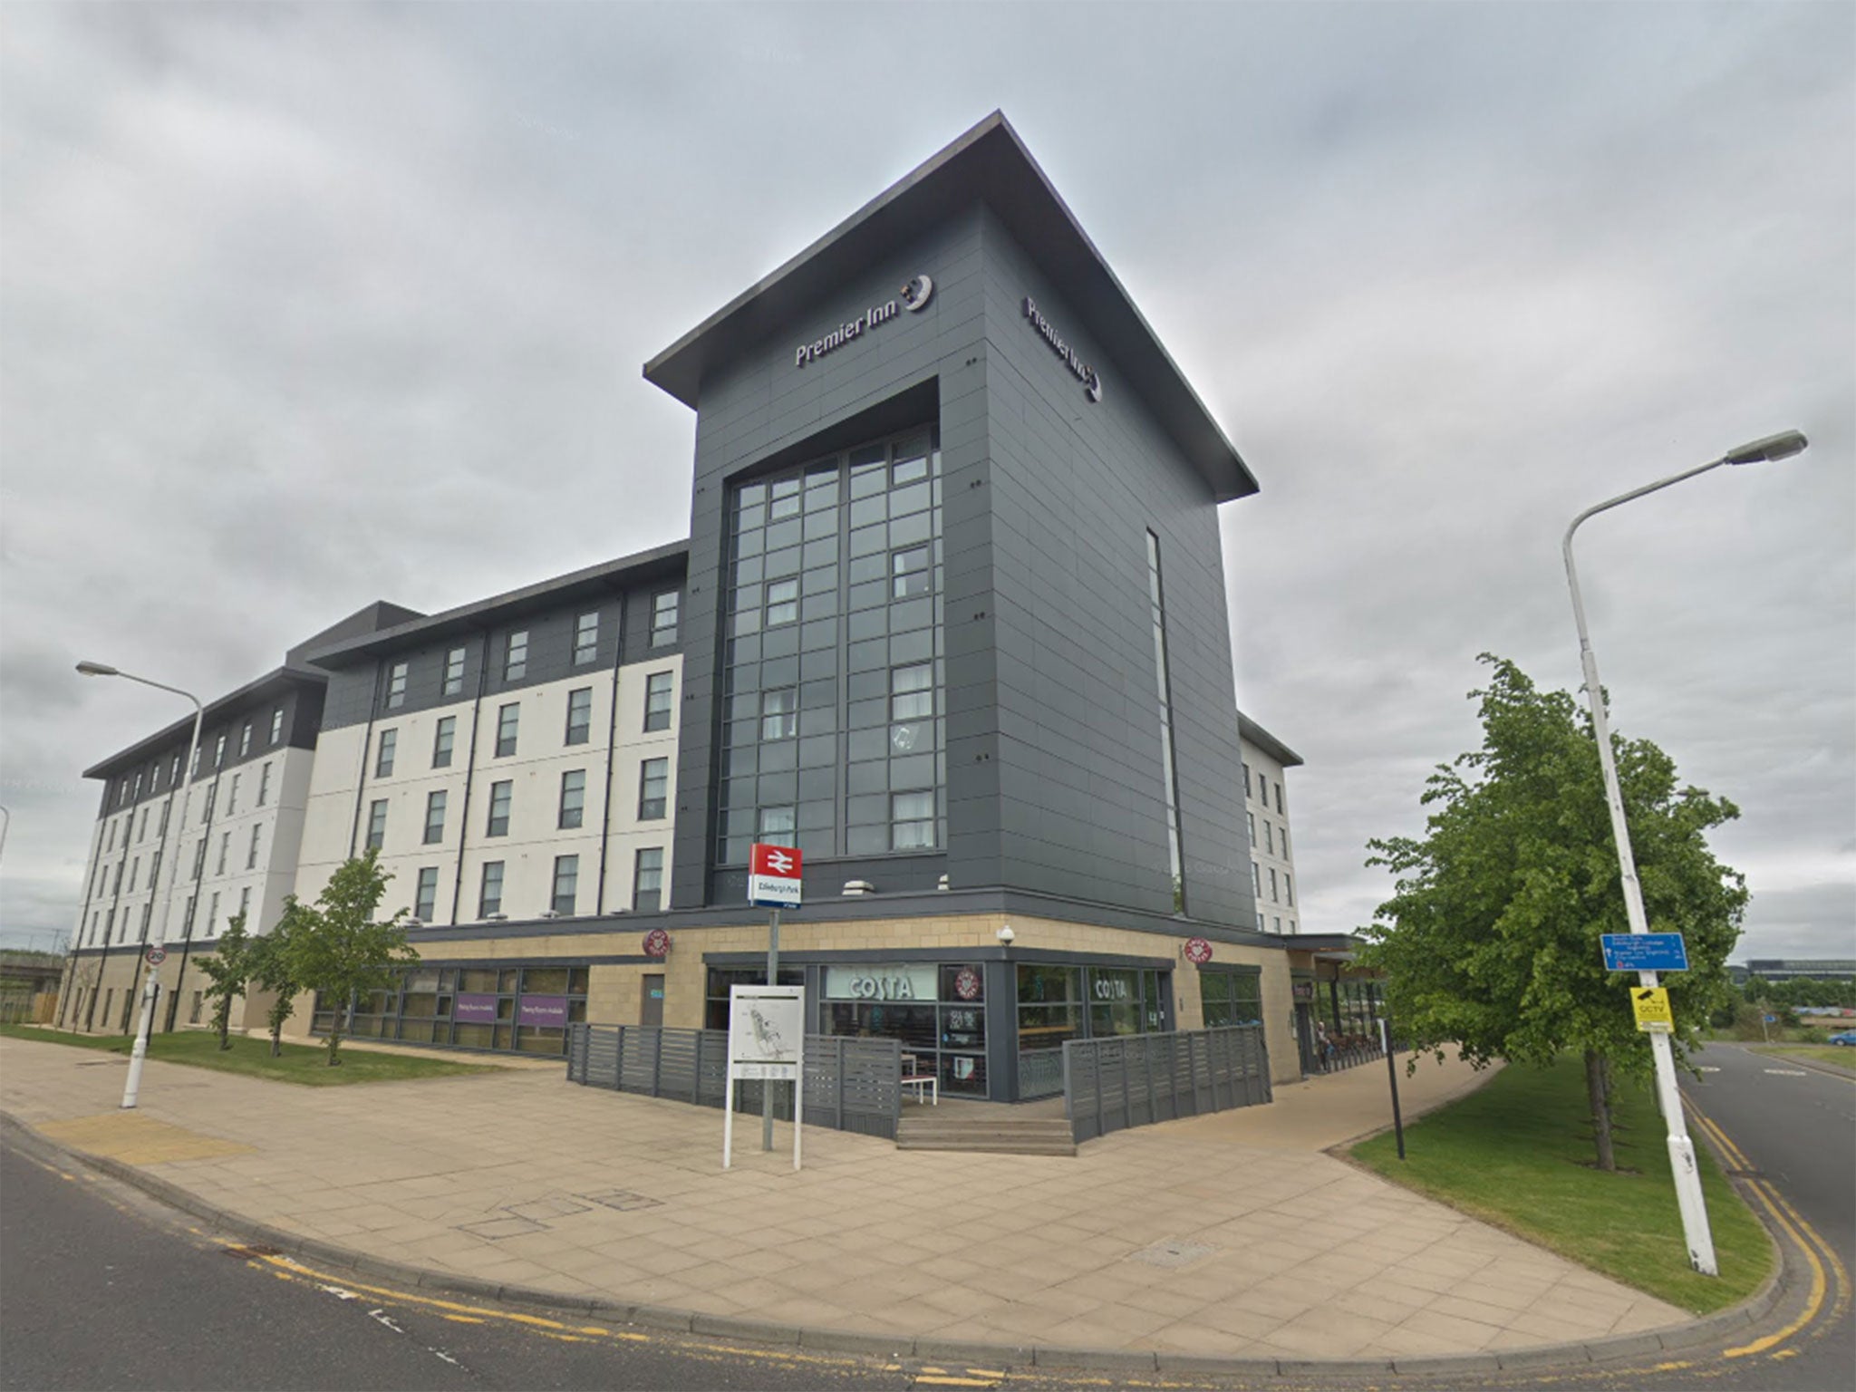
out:
<path id="1" fill-rule="evenodd" d="M 570 1025 L 568 1082 L 720 1108 L 728 1093 L 728 1030 L 650 1025 Z M 902 1117 L 902 1043 L 806 1036 L 806 1125 L 895 1140 Z M 735 1106 L 759 1114 L 761 1084 L 739 1082 Z M 774 1110 L 793 1119 L 791 1089 Z"/>

